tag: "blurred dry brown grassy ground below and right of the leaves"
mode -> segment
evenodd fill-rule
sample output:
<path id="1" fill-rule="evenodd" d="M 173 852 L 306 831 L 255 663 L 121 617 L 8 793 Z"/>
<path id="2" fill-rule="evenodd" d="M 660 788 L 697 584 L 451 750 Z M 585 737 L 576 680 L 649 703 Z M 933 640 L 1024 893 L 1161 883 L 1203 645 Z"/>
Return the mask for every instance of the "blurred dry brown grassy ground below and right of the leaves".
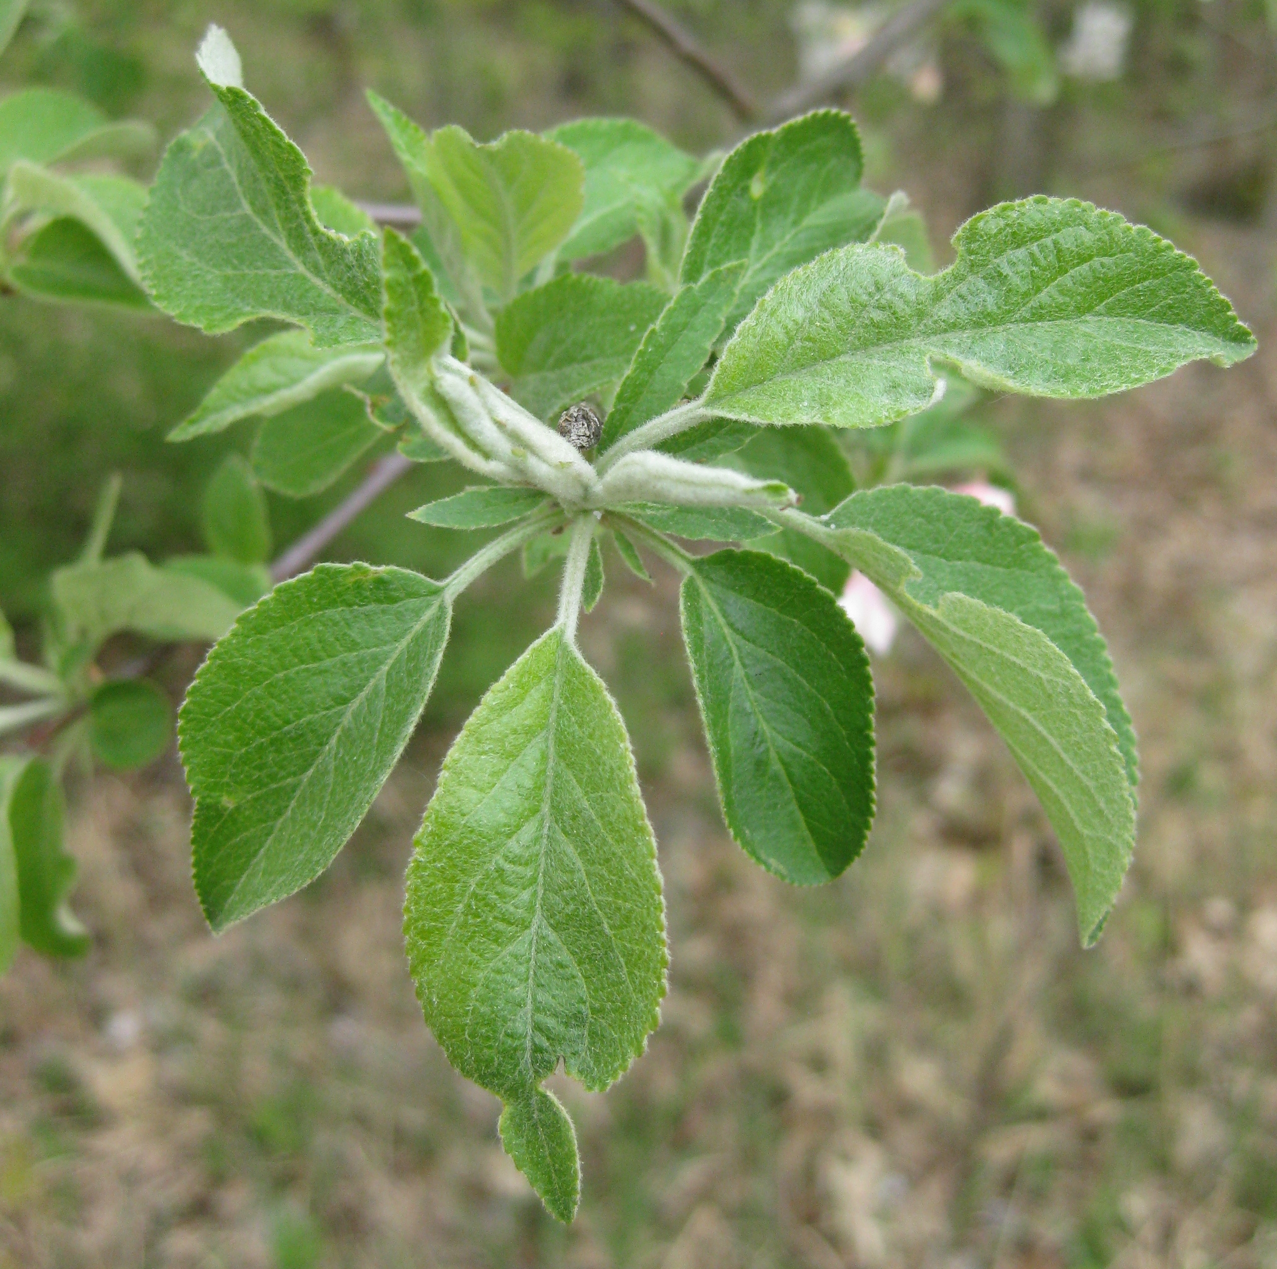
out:
<path id="1" fill-rule="evenodd" d="M 673 971 L 631 1073 L 561 1090 L 576 1226 L 530 1199 L 412 999 L 430 732 L 324 879 L 216 941 L 176 768 L 83 791 L 94 952 L 0 983 L 0 1264 L 1277 1265 L 1277 323 L 1262 243 L 1197 247 L 1254 360 L 1001 406 L 1142 735 L 1138 859 L 1097 951 L 1023 780 L 912 638 L 877 666 L 865 859 L 822 891 L 765 877 L 718 819 L 673 581 L 614 569 L 585 639 L 636 734 Z"/>

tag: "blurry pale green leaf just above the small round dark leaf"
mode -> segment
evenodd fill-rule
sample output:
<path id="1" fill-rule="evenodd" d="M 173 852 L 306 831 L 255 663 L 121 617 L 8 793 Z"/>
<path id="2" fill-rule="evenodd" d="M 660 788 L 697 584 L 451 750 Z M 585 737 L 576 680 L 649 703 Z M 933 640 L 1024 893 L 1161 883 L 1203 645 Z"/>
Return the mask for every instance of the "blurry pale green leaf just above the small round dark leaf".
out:
<path id="1" fill-rule="evenodd" d="M 121 630 L 148 639 L 212 643 L 240 611 L 206 581 L 156 569 L 137 552 L 57 569 L 51 589 L 66 642 L 92 648 Z"/>

